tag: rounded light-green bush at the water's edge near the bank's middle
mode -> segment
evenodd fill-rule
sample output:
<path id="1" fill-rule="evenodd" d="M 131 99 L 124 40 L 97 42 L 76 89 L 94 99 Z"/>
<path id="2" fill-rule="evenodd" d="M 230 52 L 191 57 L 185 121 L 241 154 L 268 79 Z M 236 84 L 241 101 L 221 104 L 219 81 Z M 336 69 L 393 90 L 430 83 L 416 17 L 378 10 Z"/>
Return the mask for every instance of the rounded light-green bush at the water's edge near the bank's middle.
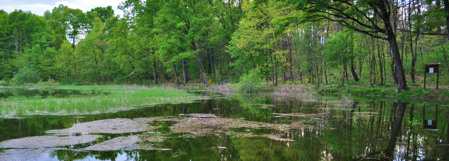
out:
<path id="1" fill-rule="evenodd" d="M 251 70 L 248 74 L 243 74 L 240 77 L 240 82 L 237 85 L 237 91 L 245 93 L 257 93 L 261 91 L 264 87 L 261 75 L 255 71 Z"/>

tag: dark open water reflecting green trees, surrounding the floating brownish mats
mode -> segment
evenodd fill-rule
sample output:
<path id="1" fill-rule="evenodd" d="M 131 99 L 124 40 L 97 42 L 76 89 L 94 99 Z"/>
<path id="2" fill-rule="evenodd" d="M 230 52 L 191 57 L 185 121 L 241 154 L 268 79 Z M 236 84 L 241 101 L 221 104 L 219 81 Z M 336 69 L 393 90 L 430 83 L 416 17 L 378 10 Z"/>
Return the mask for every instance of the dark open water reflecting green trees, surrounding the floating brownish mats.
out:
<path id="1" fill-rule="evenodd" d="M 74 123 L 102 119 L 213 113 L 220 117 L 244 118 L 248 121 L 273 124 L 301 121 L 314 128 L 298 128 L 289 131 L 237 128 L 233 131 L 239 133 L 238 136 L 210 135 L 185 138 L 181 137 L 182 133 L 172 134 L 169 130 L 168 127 L 176 122 L 157 122 L 154 126 L 163 127 L 153 132 L 168 137 L 166 141 L 157 145 L 171 150 L 74 151 L 61 149 L 55 150 L 44 160 L 447 161 L 449 160 L 447 117 L 449 110 L 445 104 L 439 107 L 428 102 L 416 104 L 398 100 L 231 95 L 191 104 L 163 104 L 116 113 L 0 118 L 2 131 L 0 140 L 45 135 L 44 131 L 70 128 Z M 428 120 L 432 120 L 431 125 Z M 427 130 L 429 126 L 435 130 Z M 261 134 L 281 135 L 284 139 L 294 141 L 246 137 Z M 104 139 L 98 142 L 120 135 L 104 134 L 104 136 Z M 93 144 L 97 142 L 77 145 L 75 148 L 85 148 Z"/>

